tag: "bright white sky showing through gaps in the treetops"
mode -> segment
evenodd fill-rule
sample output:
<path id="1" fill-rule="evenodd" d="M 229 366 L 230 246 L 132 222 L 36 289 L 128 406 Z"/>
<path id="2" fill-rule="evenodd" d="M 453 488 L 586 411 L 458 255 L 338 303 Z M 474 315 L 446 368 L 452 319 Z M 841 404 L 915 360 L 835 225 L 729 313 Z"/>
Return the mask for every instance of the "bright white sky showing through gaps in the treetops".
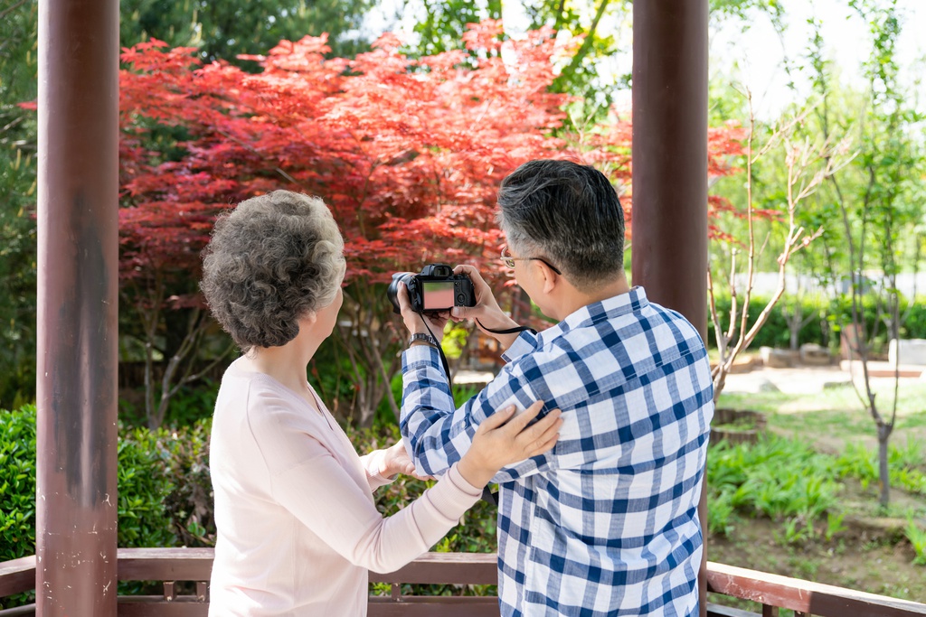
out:
<path id="1" fill-rule="evenodd" d="M 414 0 L 412 0 L 413 2 Z M 479 0 L 476 0 L 477 4 Z M 589 0 L 573 0 L 594 7 Z M 725 19 L 712 21 L 709 39 L 710 72 L 714 79 L 735 83 L 740 89 L 748 87 L 753 95 L 756 115 L 771 119 L 781 114 L 795 98 L 806 98 L 808 84 L 797 80 L 797 93 L 787 87 L 784 59 L 796 60 L 807 47 L 810 29 L 807 19 L 812 16 L 822 21 L 823 39 L 829 60 L 839 67 L 850 83 L 862 86 L 862 63 L 870 50 L 867 24 L 848 6 L 848 0 L 782 0 L 788 27 L 780 37 L 770 19 L 756 13 L 746 20 Z M 898 45 L 898 59 L 902 79 L 920 98 L 920 110 L 926 111 L 926 83 L 915 88 L 914 81 L 926 73 L 922 58 L 926 57 L 926 0 L 898 0 L 905 14 L 905 24 Z M 370 14 L 369 31 L 393 29 L 411 36 L 415 10 L 405 9 L 404 0 L 382 0 L 381 8 Z M 523 11 L 514 0 L 503 2 L 503 19 L 507 31 L 517 34 L 525 27 Z M 395 17 L 397 16 L 397 17 Z M 397 20 L 396 20 L 397 19 Z M 607 27 L 617 31 L 619 41 L 627 52 L 615 56 L 608 63 L 615 75 L 632 69 L 632 32 L 629 23 L 610 22 Z M 748 26 L 744 31 L 744 26 Z M 918 59 L 920 60 L 918 62 Z M 629 105 L 629 93 L 624 105 Z M 619 101 L 620 102 L 620 101 Z"/>

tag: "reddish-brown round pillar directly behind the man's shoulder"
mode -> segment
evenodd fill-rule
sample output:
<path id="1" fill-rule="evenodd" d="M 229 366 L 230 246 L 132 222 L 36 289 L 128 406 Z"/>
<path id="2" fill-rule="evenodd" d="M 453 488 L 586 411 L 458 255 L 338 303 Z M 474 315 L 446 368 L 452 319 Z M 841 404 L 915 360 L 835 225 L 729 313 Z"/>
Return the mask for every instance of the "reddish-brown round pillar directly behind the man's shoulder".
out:
<path id="1" fill-rule="evenodd" d="M 632 281 L 707 340 L 707 0 L 633 3 L 632 86 Z"/>

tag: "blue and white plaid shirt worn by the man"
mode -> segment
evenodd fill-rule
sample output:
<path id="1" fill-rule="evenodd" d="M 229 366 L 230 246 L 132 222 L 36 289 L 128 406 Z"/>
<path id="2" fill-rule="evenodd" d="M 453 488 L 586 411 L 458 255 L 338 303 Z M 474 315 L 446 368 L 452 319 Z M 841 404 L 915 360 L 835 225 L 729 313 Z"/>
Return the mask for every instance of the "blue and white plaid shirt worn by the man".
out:
<path id="1" fill-rule="evenodd" d="M 696 614 L 714 413 L 697 330 L 634 288 L 521 333 L 503 357 L 456 409 L 437 351 L 407 350 L 401 421 L 419 470 L 442 475 L 491 413 L 562 410 L 553 450 L 494 477 L 502 615 Z"/>

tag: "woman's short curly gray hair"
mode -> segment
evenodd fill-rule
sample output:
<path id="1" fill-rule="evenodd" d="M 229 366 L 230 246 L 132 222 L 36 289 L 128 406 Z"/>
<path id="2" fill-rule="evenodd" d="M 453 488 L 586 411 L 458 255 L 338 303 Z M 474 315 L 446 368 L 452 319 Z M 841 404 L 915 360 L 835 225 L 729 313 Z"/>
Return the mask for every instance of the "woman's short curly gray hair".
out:
<path id="1" fill-rule="evenodd" d="M 344 240 L 318 197 L 273 191 L 219 216 L 200 284 L 242 352 L 294 339 L 298 320 L 328 306 L 344 279 Z"/>

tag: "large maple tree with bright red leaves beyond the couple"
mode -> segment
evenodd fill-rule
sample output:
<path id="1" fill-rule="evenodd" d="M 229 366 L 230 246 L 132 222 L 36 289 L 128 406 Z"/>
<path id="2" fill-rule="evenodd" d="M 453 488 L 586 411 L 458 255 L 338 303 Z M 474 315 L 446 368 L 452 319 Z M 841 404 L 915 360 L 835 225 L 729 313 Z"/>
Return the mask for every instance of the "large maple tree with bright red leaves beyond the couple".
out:
<path id="1" fill-rule="evenodd" d="M 512 169 L 541 157 L 607 169 L 624 188 L 630 220 L 630 121 L 570 135 L 568 98 L 549 86 L 557 56 L 574 46 L 550 30 L 518 41 L 501 34 L 499 21 L 472 24 L 469 54 L 419 59 L 403 55 L 391 34 L 353 60 L 326 58 L 325 38 L 306 37 L 248 56 L 255 74 L 202 65 L 194 50 L 157 41 L 123 51 L 122 288 L 143 316 L 149 349 L 170 308 L 192 315 L 181 338 L 192 345 L 181 341 L 165 356 L 174 373 L 162 380 L 159 409 L 149 397 L 149 424 L 197 376 L 180 367 L 209 327 L 194 284 L 199 255 L 214 217 L 243 199 L 286 188 L 332 208 L 348 263 L 336 336 L 354 369 L 349 406 L 360 424 L 369 424 L 398 369 L 401 337 L 385 284 L 395 271 L 431 262 L 471 263 L 501 282 L 494 200 Z M 719 131 L 711 166 L 729 173 L 739 137 Z"/>

